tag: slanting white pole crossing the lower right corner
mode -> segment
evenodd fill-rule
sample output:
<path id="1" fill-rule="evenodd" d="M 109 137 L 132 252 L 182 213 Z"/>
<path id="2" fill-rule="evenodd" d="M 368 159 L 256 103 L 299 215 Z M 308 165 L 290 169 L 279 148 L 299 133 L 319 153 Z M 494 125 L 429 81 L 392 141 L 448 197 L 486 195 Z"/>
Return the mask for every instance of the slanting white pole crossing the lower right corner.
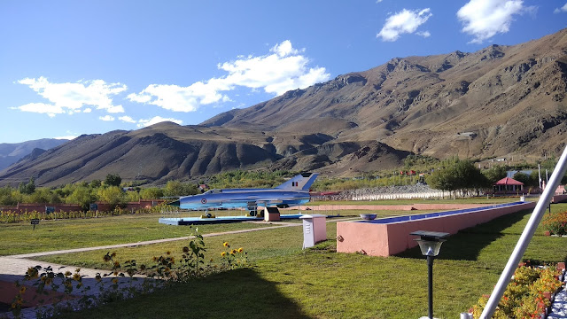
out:
<path id="1" fill-rule="evenodd" d="M 500 302 L 502 295 L 506 290 L 506 286 L 509 284 L 512 275 L 514 275 L 517 264 L 520 262 L 522 256 L 524 256 L 525 249 L 530 244 L 533 233 L 538 228 L 538 225 L 541 222 L 541 218 L 546 212 L 546 208 L 548 207 L 549 202 L 551 201 L 551 198 L 555 193 L 557 185 L 559 185 L 561 178 L 563 177 L 563 175 L 565 175 L 565 171 L 567 171 L 567 146 L 565 146 L 563 154 L 561 155 L 559 162 L 557 162 L 557 165 L 555 166 L 555 170 L 551 175 L 549 184 L 546 185 L 547 187 L 545 191 L 543 191 L 543 194 L 541 194 L 538 204 L 533 209 L 532 216 L 530 217 L 528 223 L 525 225 L 522 236 L 520 236 L 520 239 L 517 241 L 516 247 L 510 255 L 508 263 L 502 271 L 500 279 L 498 279 L 498 283 L 494 286 L 493 293 L 490 295 L 490 299 L 488 299 L 485 310 L 482 312 L 482 315 L 480 315 L 480 319 L 492 318 L 494 310 L 498 306 L 498 303 Z"/>

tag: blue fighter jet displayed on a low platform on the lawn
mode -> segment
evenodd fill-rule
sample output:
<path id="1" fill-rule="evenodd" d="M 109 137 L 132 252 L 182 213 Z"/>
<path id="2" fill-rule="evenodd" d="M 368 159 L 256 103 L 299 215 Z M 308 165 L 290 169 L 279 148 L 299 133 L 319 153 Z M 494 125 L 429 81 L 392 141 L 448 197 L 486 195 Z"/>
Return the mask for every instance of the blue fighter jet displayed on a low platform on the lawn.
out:
<path id="1" fill-rule="evenodd" d="M 200 195 L 185 196 L 170 203 L 183 209 L 206 210 L 209 208 L 247 208 L 255 211 L 258 206 L 285 208 L 309 201 L 309 187 L 318 173 L 302 173 L 273 189 L 224 189 L 206 191 Z"/>

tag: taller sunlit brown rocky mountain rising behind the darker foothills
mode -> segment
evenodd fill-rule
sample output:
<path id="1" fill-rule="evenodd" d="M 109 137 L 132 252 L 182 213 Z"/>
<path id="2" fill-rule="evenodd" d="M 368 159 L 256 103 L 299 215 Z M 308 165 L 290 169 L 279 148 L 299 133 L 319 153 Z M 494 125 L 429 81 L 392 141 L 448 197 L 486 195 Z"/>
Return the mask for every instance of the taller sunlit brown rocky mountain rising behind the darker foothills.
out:
<path id="1" fill-rule="evenodd" d="M 329 143 L 378 141 L 443 158 L 540 156 L 563 148 L 567 124 L 567 29 L 474 53 L 392 58 L 202 125 L 263 123 L 319 132 Z"/>

